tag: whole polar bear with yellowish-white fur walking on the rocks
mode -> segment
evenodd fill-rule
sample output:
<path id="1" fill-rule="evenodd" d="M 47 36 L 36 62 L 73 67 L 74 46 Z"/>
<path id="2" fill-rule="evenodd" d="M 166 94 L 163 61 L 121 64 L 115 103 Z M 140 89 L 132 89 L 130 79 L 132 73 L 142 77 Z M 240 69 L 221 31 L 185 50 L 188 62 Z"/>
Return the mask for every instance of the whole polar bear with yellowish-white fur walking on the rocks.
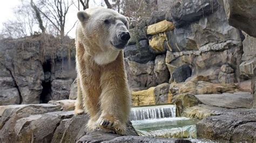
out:
<path id="1" fill-rule="evenodd" d="M 123 54 L 129 18 L 103 7 L 79 11 L 77 17 L 75 114 L 89 113 L 89 130 L 125 134 L 131 106 Z"/>

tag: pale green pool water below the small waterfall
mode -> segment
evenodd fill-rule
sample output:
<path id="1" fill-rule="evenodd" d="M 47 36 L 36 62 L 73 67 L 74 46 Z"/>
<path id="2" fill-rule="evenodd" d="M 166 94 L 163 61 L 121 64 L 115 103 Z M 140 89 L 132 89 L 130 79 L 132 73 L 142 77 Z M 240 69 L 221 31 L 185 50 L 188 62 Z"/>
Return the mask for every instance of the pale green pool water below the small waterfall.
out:
<path id="1" fill-rule="evenodd" d="M 139 135 L 162 138 L 197 138 L 197 119 L 184 117 L 134 120 Z"/>

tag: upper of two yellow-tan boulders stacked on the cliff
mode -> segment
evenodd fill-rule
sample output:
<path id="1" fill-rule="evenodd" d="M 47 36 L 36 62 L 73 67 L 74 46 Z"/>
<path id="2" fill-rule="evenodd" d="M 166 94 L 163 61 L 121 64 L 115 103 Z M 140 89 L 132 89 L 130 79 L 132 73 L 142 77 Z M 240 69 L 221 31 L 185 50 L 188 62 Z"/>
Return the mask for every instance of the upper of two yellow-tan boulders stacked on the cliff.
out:
<path id="1" fill-rule="evenodd" d="M 160 32 L 170 31 L 174 29 L 174 25 L 172 22 L 168 22 L 167 20 L 163 20 L 156 24 L 152 24 L 147 26 L 147 34 L 154 35 Z"/>

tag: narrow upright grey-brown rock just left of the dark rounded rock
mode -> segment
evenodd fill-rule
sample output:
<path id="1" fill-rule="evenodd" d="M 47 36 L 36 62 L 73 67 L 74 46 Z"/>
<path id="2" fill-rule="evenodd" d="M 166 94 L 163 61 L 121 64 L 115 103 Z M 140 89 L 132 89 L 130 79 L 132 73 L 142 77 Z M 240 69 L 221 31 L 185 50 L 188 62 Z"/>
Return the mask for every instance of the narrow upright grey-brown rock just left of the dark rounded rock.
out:
<path id="1" fill-rule="evenodd" d="M 165 64 L 165 55 L 158 55 L 154 60 L 154 74 L 156 74 L 156 83 L 169 82 L 170 73 Z"/>

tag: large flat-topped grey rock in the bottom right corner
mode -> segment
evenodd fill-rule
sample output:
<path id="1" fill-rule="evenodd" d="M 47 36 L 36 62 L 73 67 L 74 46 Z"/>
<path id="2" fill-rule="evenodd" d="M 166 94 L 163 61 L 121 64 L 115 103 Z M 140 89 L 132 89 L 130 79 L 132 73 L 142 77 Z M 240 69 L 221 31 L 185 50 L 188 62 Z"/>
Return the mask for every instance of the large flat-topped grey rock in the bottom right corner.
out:
<path id="1" fill-rule="evenodd" d="M 197 123 L 198 138 L 230 141 L 256 141 L 256 110 L 233 110 L 207 117 Z M 250 127 L 249 127 L 250 125 Z"/>

